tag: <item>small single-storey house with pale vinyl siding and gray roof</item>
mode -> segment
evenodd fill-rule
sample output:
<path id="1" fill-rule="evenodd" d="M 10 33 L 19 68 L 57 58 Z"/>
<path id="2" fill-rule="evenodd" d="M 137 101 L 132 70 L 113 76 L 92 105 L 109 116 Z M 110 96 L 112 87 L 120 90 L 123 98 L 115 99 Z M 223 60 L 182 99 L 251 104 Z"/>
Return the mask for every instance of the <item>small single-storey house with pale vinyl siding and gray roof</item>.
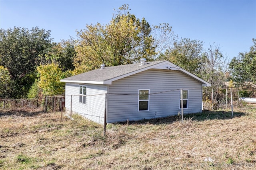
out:
<path id="1" fill-rule="evenodd" d="M 60 80 L 66 112 L 103 124 L 202 112 L 208 82 L 169 61 L 110 66 Z M 104 118 L 105 121 L 104 121 Z"/>

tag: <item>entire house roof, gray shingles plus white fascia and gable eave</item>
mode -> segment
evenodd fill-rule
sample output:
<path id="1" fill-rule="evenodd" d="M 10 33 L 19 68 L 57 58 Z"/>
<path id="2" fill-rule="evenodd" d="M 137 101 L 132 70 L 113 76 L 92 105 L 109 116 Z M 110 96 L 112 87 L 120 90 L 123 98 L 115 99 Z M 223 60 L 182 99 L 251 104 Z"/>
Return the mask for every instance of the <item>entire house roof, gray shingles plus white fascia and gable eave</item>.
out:
<path id="1" fill-rule="evenodd" d="M 120 66 L 110 66 L 110 67 L 105 67 L 104 69 L 99 68 L 96 70 L 78 74 L 76 76 L 64 78 L 60 81 L 74 82 L 74 83 L 89 83 L 89 84 L 112 84 L 112 82 L 115 80 L 124 78 L 126 76 L 130 76 L 132 74 L 136 74 L 138 72 L 142 72 L 144 70 L 148 70 L 151 68 L 177 70 L 179 72 L 182 72 L 183 74 L 186 74 L 191 78 L 194 78 L 198 82 L 202 83 L 203 86 L 211 86 L 210 83 L 202 80 L 196 75 L 180 68 L 179 66 L 176 66 L 175 64 L 169 61 L 148 61 L 144 65 L 140 65 L 140 63 L 136 63 L 136 64 L 127 64 L 127 65 L 120 65 Z"/>

